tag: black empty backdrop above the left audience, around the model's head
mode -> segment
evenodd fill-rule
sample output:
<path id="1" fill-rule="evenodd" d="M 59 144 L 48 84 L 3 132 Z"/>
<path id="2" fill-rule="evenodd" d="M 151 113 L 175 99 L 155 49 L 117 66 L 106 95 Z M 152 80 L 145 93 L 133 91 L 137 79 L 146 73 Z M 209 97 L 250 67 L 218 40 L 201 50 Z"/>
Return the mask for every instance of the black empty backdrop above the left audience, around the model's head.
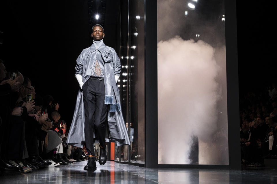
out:
<path id="1" fill-rule="evenodd" d="M 103 25 L 105 44 L 113 48 L 119 2 L 106 3 Z M 79 88 L 76 59 L 92 43 L 87 0 L 1 1 L 0 8 L 0 58 L 7 70 L 29 77 L 36 94 L 52 95 L 61 119 L 71 124 Z"/>

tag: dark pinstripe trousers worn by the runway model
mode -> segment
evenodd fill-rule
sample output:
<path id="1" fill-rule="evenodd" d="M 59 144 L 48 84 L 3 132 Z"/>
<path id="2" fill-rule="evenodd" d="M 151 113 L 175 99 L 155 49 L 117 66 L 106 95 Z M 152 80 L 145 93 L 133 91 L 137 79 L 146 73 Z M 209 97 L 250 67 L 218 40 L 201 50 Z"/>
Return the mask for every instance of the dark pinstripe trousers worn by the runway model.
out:
<path id="1" fill-rule="evenodd" d="M 104 104 L 104 81 L 90 77 L 82 86 L 85 108 L 85 142 L 88 153 L 94 155 L 93 132 L 95 131 L 100 145 L 105 146 L 105 122 L 107 121 L 108 106 Z"/>

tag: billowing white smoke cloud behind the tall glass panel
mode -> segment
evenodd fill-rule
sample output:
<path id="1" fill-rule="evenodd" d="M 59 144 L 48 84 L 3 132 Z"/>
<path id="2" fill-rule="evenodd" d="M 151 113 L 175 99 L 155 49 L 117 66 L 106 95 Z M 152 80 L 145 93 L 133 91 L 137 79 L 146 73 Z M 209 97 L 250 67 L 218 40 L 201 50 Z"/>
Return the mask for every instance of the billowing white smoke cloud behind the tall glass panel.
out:
<path id="1" fill-rule="evenodd" d="M 228 164 L 219 150 L 226 140 L 214 142 L 215 133 L 227 132 L 227 111 L 218 122 L 218 108 L 227 109 L 224 57 L 224 47 L 216 52 L 201 40 L 176 36 L 158 43 L 159 164 L 191 164 L 193 135 L 199 139 L 199 164 Z"/>

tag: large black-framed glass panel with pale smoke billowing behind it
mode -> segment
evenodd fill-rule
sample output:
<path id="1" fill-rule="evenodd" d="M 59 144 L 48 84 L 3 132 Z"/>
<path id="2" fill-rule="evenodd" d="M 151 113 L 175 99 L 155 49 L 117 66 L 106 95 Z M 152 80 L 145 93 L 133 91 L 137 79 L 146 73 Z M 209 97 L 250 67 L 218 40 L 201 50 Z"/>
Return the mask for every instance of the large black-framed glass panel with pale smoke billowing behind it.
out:
<path id="1" fill-rule="evenodd" d="M 158 164 L 228 165 L 224 0 L 158 0 L 157 21 Z"/>

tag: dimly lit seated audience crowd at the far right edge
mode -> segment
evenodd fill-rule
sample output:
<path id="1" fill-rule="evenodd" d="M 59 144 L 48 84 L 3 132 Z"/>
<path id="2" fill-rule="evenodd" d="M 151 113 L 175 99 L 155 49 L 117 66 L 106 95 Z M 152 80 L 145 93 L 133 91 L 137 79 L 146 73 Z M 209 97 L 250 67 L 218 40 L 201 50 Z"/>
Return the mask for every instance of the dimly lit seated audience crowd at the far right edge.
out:
<path id="1" fill-rule="evenodd" d="M 276 85 L 272 84 L 272 89 L 249 92 L 240 99 L 243 165 L 265 166 L 264 159 L 277 158 L 276 91 Z"/>

